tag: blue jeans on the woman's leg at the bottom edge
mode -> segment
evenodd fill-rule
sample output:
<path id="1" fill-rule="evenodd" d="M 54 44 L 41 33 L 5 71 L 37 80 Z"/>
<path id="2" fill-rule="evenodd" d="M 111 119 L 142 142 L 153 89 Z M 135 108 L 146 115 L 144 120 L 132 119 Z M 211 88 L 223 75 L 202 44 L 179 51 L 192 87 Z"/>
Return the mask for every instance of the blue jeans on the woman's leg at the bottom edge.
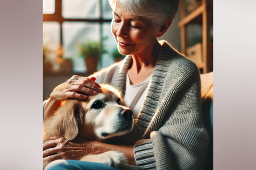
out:
<path id="1" fill-rule="evenodd" d="M 55 160 L 45 167 L 45 170 L 117 170 L 114 167 L 95 162 L 76 160 Z"/>

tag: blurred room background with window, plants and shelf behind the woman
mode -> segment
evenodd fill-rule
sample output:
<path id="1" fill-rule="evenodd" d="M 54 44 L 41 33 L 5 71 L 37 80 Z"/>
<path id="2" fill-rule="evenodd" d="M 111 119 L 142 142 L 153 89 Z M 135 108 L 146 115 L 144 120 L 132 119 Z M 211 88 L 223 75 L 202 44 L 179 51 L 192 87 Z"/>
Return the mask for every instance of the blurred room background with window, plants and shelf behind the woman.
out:
<path id="1" fill-rule="evenodd" d="M 108 0 L 43 0 L 43 100 L 72 75 L 87 77 L 124 58 Z M 181 0 L 166 40 L 201 73 L 213 71 L 213 0 Z"/>

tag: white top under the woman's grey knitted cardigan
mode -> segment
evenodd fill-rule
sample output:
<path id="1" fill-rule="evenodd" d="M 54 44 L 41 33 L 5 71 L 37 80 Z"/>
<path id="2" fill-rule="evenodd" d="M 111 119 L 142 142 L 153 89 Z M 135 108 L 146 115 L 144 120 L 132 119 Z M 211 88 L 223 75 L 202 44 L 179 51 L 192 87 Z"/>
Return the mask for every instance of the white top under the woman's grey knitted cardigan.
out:
<path id="1" fill-rule="evenodd" d="M 126 106 L 133 111 L 134 119 L 137 119 L 139 115 L 152 75 L 153 74 L 151 74 L 142 83 L 132 85 L 130 84 L 129 76 L 126 73 L 126 89 L 124 94 L 124 102 L 126 103 Z"/>

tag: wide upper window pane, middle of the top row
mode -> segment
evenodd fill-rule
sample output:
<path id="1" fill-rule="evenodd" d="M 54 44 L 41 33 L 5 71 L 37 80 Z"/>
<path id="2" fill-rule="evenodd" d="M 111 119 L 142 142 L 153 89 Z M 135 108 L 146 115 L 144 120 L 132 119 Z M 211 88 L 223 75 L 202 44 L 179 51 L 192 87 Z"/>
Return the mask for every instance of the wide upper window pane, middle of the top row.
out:
<path id="1" fill-rule="evenodd" d="M 99 0 L 62 0 L 64 18 L 100 18 Z"/>

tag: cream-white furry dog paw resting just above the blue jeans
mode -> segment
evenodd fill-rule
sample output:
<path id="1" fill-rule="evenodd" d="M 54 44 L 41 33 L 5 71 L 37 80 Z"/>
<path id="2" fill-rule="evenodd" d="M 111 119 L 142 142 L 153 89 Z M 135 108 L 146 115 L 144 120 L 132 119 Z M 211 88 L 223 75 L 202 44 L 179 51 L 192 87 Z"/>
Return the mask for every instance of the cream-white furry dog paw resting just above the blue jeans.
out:
<path id="1" fill-rule="evenodd" d="M 117 151 L 108 151 L 98 155 L 87 155 L 80 160 L 103 163 L 113 167 L 120 167 L 127 162 L 124 154 Z"/>

